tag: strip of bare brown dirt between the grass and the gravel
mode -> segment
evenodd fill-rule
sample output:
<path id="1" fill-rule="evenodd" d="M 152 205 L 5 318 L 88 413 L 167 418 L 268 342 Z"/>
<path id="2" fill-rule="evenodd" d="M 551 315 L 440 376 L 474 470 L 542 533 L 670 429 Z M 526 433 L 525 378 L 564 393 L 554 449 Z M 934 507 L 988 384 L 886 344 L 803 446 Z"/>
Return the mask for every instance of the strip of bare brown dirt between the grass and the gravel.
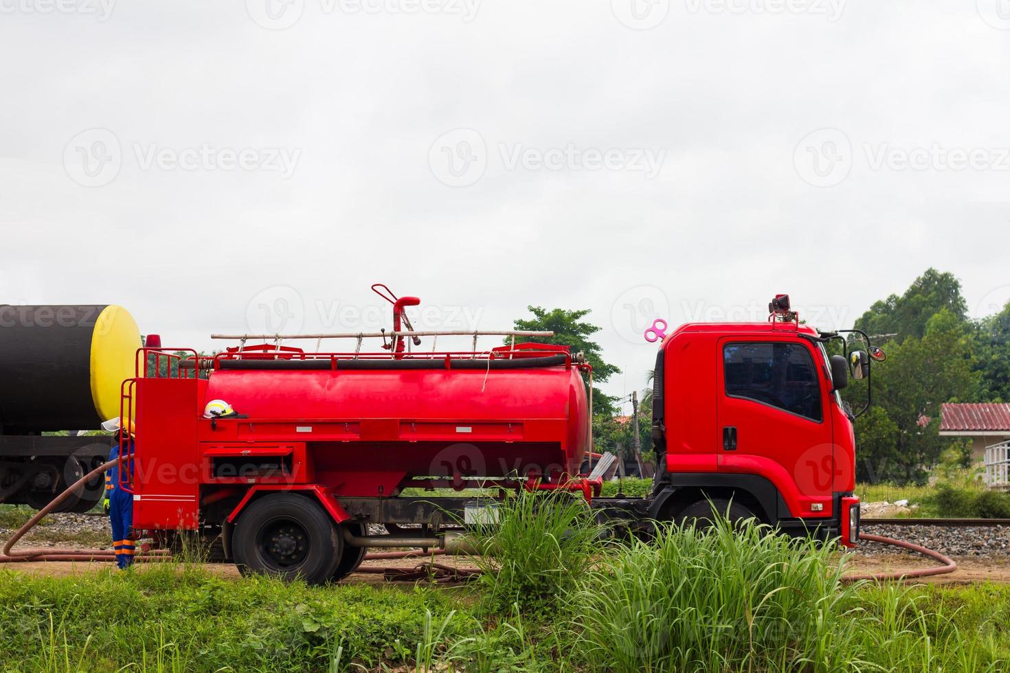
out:
<path id="1" fill-rule="evenodd" d="M 435 557 L 435 561 L 442 565 L 458 568 L 474 568 L 473 559 L 466 557 Z M 936 582 L 942 584 L 970 584 L 974 582 L 1001 582 L 1010 583 L 1010 563 L 1004 559 L 980 559 L 971 557 L 954 558 L 957 563 L 957 570 L 934 577 L 924 577 L 916 581 Z M 393 559 L 366 561 L 363 568 L 413 568 L 424 562 L 424 559 Z M 933 561 L 918 556 L 916 554 L 888 554 L 881 556 L 856 556 L 851 559 L 848 565 L 850 573 L 877 573 L 895 572 L 900 570 L 912 570 L 917 568 L 927 568 L 936 565 Z M 26 572 L 38 575 L 49 575 L 54 577 L 66 577 L 85 572 L 100 572 L 111 566 L 107 562 L 29 562 L 11 563 L 6 567 L 10 570 Z M 238 577 L 238 571 L 231 564 L 207 564 L 207 569 L 211 572 L 219 573 L 222 577 Z M 381 573 L 355 573 L 347 577 L 344 582 L 383 584 L 386 579 Z"/>

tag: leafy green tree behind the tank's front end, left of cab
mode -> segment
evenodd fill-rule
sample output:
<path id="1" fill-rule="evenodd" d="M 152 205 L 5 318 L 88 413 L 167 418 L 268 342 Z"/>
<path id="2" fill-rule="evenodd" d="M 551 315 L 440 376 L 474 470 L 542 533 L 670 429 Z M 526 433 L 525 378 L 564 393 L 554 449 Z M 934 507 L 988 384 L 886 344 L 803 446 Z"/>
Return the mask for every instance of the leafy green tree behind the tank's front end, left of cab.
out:
<path id="1" fill-rule="evenodd" d="M 533 314 L 533 318 L 514 321 L 516 330 L 554 333 L 552 337 L 530 337 L 529 341 L 568 346 L 573 355 L 584 353 L 587 361 L 593 366 L 594 382 L 605 382 L 613 374 L 620 373 L 621 370 L 617 366 L 604 361 L 600 345 L 590 338 L 599 332 L 600 328 L 582 320 L 589 315 L 589 309 L 577 311 L 551 309 L 548 311 L 538 306 L 526 308 Z M 509 340 L 506 340 L 506 343 L 508 342 Z M 588 387 L 589 375 L 585 372 L 583 372 L 583 379 Z M 609 416 L 613 416 L 616 411 L 613 399 L 595 385 L 593 386 L 593 408 L 596 414 Z"/>

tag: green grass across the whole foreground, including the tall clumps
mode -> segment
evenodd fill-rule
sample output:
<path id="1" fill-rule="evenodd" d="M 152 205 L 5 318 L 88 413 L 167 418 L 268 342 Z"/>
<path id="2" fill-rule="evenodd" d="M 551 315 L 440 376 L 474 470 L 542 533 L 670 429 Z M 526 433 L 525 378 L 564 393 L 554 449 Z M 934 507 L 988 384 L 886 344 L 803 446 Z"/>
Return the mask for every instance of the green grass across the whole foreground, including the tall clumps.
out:
<path id="1" fill-rule="evenodd" d="M 1010 586 L 844 584 L 815 542 L 666 528 L 603 545 L 584 506 L 499 507 L 480 581 L 309 587 L 193 563 L 0 570 L 0 671 L 997 671 Z"/>

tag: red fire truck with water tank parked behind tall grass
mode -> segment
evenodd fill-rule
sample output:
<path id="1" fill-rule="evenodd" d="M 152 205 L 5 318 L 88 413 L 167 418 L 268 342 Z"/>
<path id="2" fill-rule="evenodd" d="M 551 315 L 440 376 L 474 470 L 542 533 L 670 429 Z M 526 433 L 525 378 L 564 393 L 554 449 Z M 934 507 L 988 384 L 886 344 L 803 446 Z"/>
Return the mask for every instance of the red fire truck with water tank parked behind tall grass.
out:
<path id="1" fill-rule="evenodd" d="M 414 331 L 404 309 L 419 300 L 390 302 L 391 332 L 299 335 L 352 339 L 354 352 L 310 353 L 279 338 L 245 345 L 267 335 L 236 335 L 239 346 L 212 357 L 138 351 L 121 412 L 136 428 L 132 453 L 121 446 L 132 477 L 120 470 L 134 528 L 158 540 L 219 538 L 243 571 L 315 583 L 351 572 L 369 548 L 452 548 L 490 514 L 486 497 L 407 488 L 567 489 L 631 529 L 717 508 L 854 545 L 853 417 L 838 390 L 849 372 L 869 377 L 874 358 L 801 324 L 787 297 L 765 323 L 688 324 L 663 336 L 660 468 L 641 498 L 601 498 L 600 480 L 580 474 L 591 449 L 591 367 L 581 354 L 515 343 L 547 336 L 527 332 L 468 332 L 472 350 L 422 352 L 421 339 L 460 333 Z M 481 353 L 481 334 L 511 343 Z M 384 350 L 363 352 L 373 337 Z M 844 354 L 829 357 L 834 339 Z M 867 348 L 883 358 L 869 339 Z M 205 418 L 218 400 L 235 415 Z M 385 533 L 370 531 L 379 524 Z"/>

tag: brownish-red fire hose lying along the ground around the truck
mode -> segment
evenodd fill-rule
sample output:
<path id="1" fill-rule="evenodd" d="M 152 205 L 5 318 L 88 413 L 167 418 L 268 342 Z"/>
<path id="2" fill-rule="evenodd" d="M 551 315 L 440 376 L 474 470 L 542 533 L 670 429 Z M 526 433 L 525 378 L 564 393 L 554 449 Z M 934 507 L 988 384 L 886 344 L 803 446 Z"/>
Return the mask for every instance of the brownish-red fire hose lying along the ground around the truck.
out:
<path id="1" fill-rule="evenodd" d="M 42 518 L 53 511 L 54 508 L 59 506 L 61 502 L 70 497 L 71 493 L 78 486 L 83 486 L 85 482 L 97 477 L 99 474 L 105 472 L 113 465 L 118 462 L 116 460 L 110 460 L 107 463 L 103 463 L 91 470 L 83 477 L 78 479 L 76 482 L 71 484 L 64 492 L 60 493 L 52 502 L 46 504 L 44 508 L 39 510 L 34 517 L 29 519 L 24 526 L 19 528 L 14 535 L 11 536 L 0 554 L 0 563 L 17 563 L 17 562 L 27 562 L 27 561 L 115 561 L 115 554 L 107 549 L 47 549 L 47 548 L 37 548 L 37 549 L 19 549 L 15 551 L 13 549 L 14 545 L 17 544 L 18 540 L 24 537 L 25 533 L 30 531 L 34 526 L 42 520 Z M 940 563 L 941 566 L 936 566 L 932 568 L 922 568 L 919 570 L 910 570 L 907 572 L 893 572 L 893 573 L 876 573 L 876 574 L 855 574 L 855 575 L 844 575 L 843 580 L 846 582 L 853 582 L 861 579 L 872 579 L 872 580 L 902 580 L 902 579 L 914 579 L 919 577 L 929 577 L 932 575 L 942 575 L 944 573 L 953 572 L 957 569 L 957 564 L 953 562 L 952 559 L 940 554 L 939 552 L 934 552 L 925 547 L 920 547 L 919 545 L 912 544 L 910 542 L 905 542 L 903 540 L 892 540 L 891 538 L 884 538 L 877 535 L 861 534 L 861 540 L 866 540 L 868 542 L 877 542 L 883 545 L 891 545 L 894 547 L 899 547 L 901 549 L 907 549 L 909 551 L 917 552 L 929 558 L 935 559 Z M 404 559 L 404 558 L 428 558 L 436 554 L 443 554 L 444 550 L 430 550 L 427 553 L 418 551 L 406 551 L 406 552 L 378 552 L 374 554 L 367 554 L 365 560 L 386 560 L 386 559 Z M 171 560 L 171 556 L 166 550 L 155 549 L 147 552 L 138 554 L 135 558 L 137 561 L 152 562 L 152 561 L 168 561 Z M 464 577 L 470 577 L 476 574 L 478 571 L 465 569 L 465 568 L 453 568 L 451 566 L 443 566 L 437 563 L 428 562 L 427 564 L 417 566 L 416 568 L 359 568 L 357 572 L 368 572 L 376 574 L 384 574 L 388 579 L 419 579 L 423 578 L 425 575 L 433 577 L 436 581 L 451 581 L 452 579 L 459 579 Z"/>

